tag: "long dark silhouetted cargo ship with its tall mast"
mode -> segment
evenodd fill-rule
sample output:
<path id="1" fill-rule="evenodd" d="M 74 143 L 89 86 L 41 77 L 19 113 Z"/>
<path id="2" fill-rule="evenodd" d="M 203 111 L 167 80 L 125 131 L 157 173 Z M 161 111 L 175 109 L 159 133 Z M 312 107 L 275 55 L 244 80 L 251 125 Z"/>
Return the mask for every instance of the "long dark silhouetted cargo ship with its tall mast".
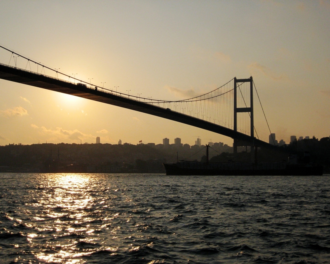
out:
<path id="1" fill-rule="evenodd" d="M 313 163 L 290 164 L 289 162 L 206 162 L 181 160 L 163 163 L 166 175 L 237 175 L 237 176 L 312 176 L 323 175 L 323 166 Z"/>

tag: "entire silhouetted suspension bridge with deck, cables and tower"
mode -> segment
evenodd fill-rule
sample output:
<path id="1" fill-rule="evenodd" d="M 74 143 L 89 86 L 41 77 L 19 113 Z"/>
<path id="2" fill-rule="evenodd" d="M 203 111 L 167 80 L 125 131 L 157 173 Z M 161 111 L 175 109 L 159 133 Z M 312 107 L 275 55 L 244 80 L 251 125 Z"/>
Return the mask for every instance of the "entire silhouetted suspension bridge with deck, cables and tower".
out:
<path id="1" fill-rule="evenodd" d="M 234 153 L 237 152 L 238 146 L 276 148 L 254 136 L 256 134 L 258 137 L 253 122 L 255 85 L 252 77 L 235 77 L 210 92 L 188 99 L 160 100 L 100 87 L 61 73 L 58 69 L 52 69 L 5 47 L 0 48 L 10 53 L 9 63 L 0 63 L 0 79 L 79 96 L 206 129 L 232 138 Z M 25 69 L 17 67 L 18 57 L 24 59 Z M 49 75 L 46 75 L 46 71 Z"/>

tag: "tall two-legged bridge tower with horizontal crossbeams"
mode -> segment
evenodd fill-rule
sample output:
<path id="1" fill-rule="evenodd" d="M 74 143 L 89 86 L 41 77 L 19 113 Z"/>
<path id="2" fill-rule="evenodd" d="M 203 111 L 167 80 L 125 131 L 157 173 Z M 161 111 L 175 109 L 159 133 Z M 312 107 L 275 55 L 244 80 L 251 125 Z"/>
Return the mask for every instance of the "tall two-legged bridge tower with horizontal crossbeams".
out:
<path id="1" fill-rule="evenodd" d="M 237 83 L 249 82 L 250 83 L 250 107 L 237 107 Z M 234 78 L 234 131 L 237 132 L 237 113 L 250 113 L 250 126 L 251 126 L 251 137 L 254 138 L 254 123 L 253 123 L 253 79 L 252 76 L 248 79 L 236 79 Z M 245 142 L 234 139 L 233 150 L 237 153 L 238 146 L 251 146 L 251 152 L 254 144 L 247 144 Z"/>

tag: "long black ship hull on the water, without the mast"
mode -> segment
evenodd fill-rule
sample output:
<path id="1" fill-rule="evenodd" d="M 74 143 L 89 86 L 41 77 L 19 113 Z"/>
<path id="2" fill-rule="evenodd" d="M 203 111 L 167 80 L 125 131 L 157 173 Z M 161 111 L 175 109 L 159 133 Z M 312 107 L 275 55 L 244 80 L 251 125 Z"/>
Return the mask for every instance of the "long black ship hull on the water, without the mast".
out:
<path id="1" fill-rule="evenodd" d="M 213 169 L 201 164 L 194 168 L 188 166 L 180 166 L 180 164 L 166 164 L 164 163 L 166 175 L 237 175 L 237 176 L 312 176 L 323 175 L 323 167 L 318 165 L 306 166 L 305 164 L 288 165 L 284 168 L 266 169 L 266 168 L 252 168 L 239 169 L 232 166 L 232 168 Z"/>

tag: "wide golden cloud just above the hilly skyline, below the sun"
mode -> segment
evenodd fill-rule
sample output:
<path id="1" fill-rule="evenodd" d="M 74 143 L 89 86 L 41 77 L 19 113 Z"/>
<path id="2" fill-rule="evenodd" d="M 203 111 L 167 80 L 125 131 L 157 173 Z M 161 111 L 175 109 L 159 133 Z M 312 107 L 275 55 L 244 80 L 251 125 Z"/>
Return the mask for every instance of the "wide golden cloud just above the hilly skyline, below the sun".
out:
<path id="1" fill-rule="evenodd" d="M 39 134 L 46 136 L 49 141 L 59 141 L 59 142 L 64 142 L 64 141 L 73 141 L 73 142 L 78 142 L 82 140 L 83 142 L 89 141 L 93 142 L 95 141 L 95 136 L 90 135 L 90 134 L 85 134 L 77 129 L 75 130 L 66 130 L 61 127 L 56 127 L 56 129 L 48 129 L 44 126 L 38 127 L 35 124 L 31 124 L 31 127 L 38 129 Z"/>

